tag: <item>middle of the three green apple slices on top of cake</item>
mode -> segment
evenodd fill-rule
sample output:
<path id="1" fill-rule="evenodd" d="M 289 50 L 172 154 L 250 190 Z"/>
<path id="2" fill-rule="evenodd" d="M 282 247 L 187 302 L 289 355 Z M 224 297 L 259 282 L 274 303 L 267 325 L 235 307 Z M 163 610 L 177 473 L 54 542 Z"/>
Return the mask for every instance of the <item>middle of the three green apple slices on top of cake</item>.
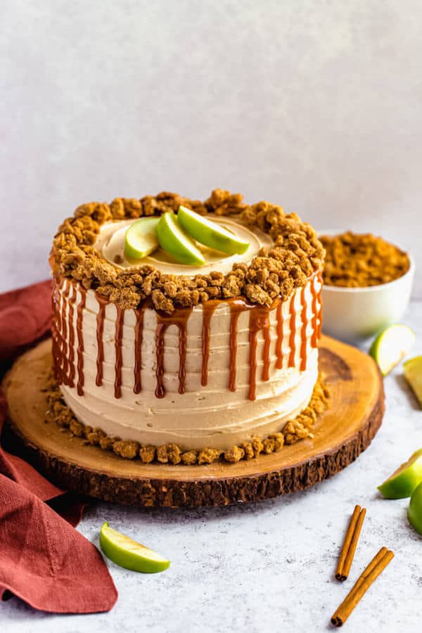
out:
<path id="1" fill-rule="evenodd" d="M 181 230 L 177 216 L 167 211 L 160 217 L 157 226 L 158 242 L 169 255 L 181 264 L 205 264 L 202 252 L 191 238 Z"/>

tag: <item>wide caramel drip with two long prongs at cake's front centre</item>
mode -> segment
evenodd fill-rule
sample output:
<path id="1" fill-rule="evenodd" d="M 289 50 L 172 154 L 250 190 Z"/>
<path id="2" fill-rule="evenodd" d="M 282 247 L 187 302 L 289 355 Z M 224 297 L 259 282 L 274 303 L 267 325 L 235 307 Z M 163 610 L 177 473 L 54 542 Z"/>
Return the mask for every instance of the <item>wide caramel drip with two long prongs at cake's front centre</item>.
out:
<path id="1" fill-rule="evenodd" d="M 157 328 L 155 329 L 155 356 L 157 359 L 155 397 L 157 398 L 165 396 L 164 335 L 167 328 L 171 325 L 175 325 L 179 329 L 179 393 L 183 394 L 185 392 L 187 324 L 191 312 L 191 307 L 179 308 L 172 314 L 157 312 Z"/>

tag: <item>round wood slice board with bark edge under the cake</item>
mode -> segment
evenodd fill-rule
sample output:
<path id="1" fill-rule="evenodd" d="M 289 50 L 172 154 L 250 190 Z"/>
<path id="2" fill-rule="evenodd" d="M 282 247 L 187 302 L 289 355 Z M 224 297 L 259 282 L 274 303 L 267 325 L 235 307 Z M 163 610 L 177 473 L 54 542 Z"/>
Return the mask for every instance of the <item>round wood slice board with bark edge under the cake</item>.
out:
<path id="1" fill-rule="evenodd" d="M 304 490 L 352 463 L 371 443 L 384 412 L 383 381 L 373 360 L 323 336 L 320 369 L 331 388 L 331 408 L 316 421 L 312 440 L 237 463 L 144 464 L 84 445 L 44 422 L 50 367 L 46 340 L 23 354 L 4 379 L 18 451 L 61 487 L 121 504 L 219 506 Z"/>

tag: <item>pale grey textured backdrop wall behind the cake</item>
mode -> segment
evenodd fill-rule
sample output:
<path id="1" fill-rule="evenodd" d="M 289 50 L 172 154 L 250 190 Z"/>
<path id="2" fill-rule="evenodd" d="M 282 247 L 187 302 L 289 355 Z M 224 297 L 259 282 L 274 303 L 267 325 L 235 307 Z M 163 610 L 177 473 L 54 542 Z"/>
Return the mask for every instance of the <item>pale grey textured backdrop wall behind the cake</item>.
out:
<path id="1" fill-rule="evenodd" d="M 422 269 L 420 0 L 4 0 L 0 30 L 0 290 L 81 202 L 215 186 Z"/>

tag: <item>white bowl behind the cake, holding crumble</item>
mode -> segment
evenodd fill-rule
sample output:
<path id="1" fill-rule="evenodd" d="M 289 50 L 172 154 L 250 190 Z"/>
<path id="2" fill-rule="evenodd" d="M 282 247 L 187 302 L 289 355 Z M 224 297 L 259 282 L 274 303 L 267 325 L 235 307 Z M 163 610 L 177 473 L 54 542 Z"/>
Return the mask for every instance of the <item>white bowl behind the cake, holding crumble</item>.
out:
<path id="1" fill-rule="evenodd" d="M 319 231 L 337 235 L 343 231 Z M 409 255 L 409 253 L 408 253 Z M 397 323 L 409 303 L 415 262 L 409 255 L 409 270 L 394 281 L 366 288 L 322 288 L 322 330 L 346 343 L 362 343 L 382 328 Z"/>

